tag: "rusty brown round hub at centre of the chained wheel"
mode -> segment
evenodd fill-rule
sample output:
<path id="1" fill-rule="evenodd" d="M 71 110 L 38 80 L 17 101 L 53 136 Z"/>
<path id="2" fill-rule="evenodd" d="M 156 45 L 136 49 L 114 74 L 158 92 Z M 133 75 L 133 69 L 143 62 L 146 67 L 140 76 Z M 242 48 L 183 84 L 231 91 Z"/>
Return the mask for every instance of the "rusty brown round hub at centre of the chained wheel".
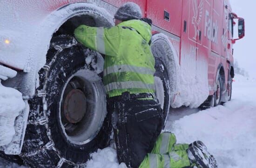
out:
<path id="1" fill-rule="evenodd" d="M 86 113 L 86 96 L 80 89 L 72 89 L 64 101 L 64 114 L 70 123 L 78 123 Z"/>

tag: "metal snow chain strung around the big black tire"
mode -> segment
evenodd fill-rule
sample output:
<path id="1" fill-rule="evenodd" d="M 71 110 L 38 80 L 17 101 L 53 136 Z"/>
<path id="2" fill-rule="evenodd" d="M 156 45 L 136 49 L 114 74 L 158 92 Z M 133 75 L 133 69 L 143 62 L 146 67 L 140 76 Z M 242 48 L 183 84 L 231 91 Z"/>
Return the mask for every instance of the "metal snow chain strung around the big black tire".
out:
<path id="1" fill-rule="evenodd" d="M 63 35 L 62 35 L 63 37 Z M 70 45 L 70 47 L 72 47 L 73 45 Z M 56 49 L 55 49 L 56 50 Z M 43 88 L 42 90 L 36 90 L 36 96 L 42 98 L 42 105 L 43 105 L 43 118 L 39 118 L 35 121 L 31 121 L 29 120 L 27 124 L 34 124 L 34 125 L 45 125 L 46 128 L 46 133 L 47 133 L 47 137 L 49 139 L 49 142 L 46 143 L 42 148 L 31 151 L 31 152 L 27 152 L 27 153 L 22 153 L 20 154 L 20 156 L 33 156 L 38 154 L 40 151 L 43 150 L 49 150 L 52 149 L 56 152 L 57 156 L 60 158 L 59 162 L 56 165 L 56 168 L 61 168 L 61 166 L 63 165 L 64 162 L 73 165 L 75 168 L 79 168 L 82 165 L 77 165 L 74 162 L 68 161 L 65 158 L 61 157 L 60 151 L 58 149 L 55 148 L 55 144 L 51 135 L 51 131 L 50 128 L 48 126 L 48 120 L 47 120 L 47 101 L 46 101 L 46 86 L 47 86 L 47 77 L 49 75 L 49 71 L 50 71 L 50 67 L 51 65 L 54 63 L 54 61 L 56 60 L 57 56 L 59 55 L 59 53 L 62 50 L 56 50 L 56 53 L 54 54 L 54 57 L 51 59 L 51 61 L 48 64 L 45 64 L 43 69 L 45 71 L 45 75 L 44 75 L 44 84 L 43 84 Z"/>

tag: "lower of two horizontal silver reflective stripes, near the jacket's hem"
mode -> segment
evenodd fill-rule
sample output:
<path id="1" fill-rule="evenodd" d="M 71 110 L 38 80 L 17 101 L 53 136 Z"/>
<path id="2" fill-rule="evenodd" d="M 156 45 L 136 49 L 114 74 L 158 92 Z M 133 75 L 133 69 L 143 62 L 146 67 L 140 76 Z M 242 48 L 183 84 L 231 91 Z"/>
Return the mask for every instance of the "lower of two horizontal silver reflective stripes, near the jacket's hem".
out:
<path id="1" fill-rule="evenodd" d="M 153 89 L 155 90 L 155 84 L 147 84 L 141 81 L 121 81 L 112 82 L 105 85 L 107 92 L 114 89 L 130 89 L 130 88 L 143 88 L 143 89 Z"/>

